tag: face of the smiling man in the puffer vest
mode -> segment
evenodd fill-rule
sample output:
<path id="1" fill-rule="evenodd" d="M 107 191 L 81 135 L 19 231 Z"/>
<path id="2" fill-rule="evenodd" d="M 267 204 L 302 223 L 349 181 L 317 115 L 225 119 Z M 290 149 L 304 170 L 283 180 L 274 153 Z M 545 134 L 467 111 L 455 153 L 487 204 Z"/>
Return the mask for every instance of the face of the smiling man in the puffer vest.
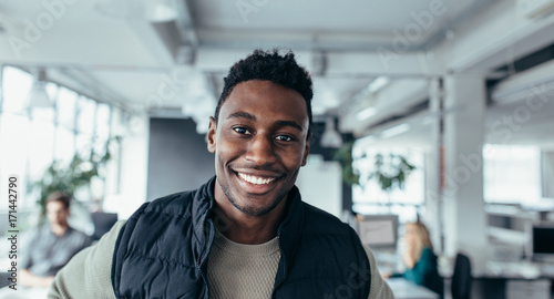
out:
<path id="1" fill-rule="evenodd" d="M 269 81 L 237 84 L 211 118 L 217 188 L 238 210 L 261 216 L 284 199 L 309 152 L 308 112 L 296 91 Z"/>

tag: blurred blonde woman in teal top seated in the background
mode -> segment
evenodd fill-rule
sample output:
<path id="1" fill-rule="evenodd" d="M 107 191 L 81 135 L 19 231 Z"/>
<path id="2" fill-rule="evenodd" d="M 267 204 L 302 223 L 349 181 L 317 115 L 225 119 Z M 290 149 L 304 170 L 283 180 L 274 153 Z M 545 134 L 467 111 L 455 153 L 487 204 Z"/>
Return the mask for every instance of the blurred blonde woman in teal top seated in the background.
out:
<path id="1" fill-rule="evenodd" d="M 423 286 L 441 297 L 444 293 L 444 285 L 438 271 L 437 255 L 429 230 L 421 221 L 406 225 L 406 251 L 403 260 L 408 270 L 402 277 Z"/>

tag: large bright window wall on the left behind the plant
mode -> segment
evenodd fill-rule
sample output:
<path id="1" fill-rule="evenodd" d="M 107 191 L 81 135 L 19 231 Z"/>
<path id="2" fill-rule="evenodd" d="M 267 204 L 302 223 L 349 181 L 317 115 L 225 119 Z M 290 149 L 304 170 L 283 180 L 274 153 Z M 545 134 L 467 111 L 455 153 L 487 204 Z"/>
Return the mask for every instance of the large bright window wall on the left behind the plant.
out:
<path id="1" fill-rule="evenodd" d="M 18 175 L 20 193 L 38 181 L 53 161 L 66 165 L 75 152 L 100 150 L 110 138 L 111 106 L 52 82 L 45 83 L 53 109 L 28 107 L 27 95 L 34 79 L 12 66 L 2 68 L 0 96 L 0 178 Z M 102 148 L 103 150 L 103 148 Z M 103 154 L 101 152 L 100 154 Z M 93 183 L 93 196 L 103 196 L 103 182 Z M 20 208 L 33 208 L 39 194 L 22 195 Z M 89 196 L 86 199 L 90 199 Z M 6 209 L 7 206 L 0 207 Z"/>

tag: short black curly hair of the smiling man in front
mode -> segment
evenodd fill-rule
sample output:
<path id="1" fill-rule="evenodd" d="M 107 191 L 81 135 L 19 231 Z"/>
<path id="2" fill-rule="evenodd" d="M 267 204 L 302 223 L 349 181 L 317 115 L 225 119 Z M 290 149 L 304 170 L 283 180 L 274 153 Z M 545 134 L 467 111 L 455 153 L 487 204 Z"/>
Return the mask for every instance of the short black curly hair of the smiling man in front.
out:
<path id="1" fill-rule="evenodd" d="M 223 103 L 229 96 L 233 89 L 240 82 L 250 80 L 270 81 L 283 85 L 287 89 L 297 91 L 306 101 L 308 110 L 308 136 L 311 132 L 311 97 L 314 97 L 312 82 L 308 71 L 298 65 L 295 59 L 295 53 L 288 51 L 284 55 L 279 54 L 278 49 L 264 51 L 260 49 L 254 50 L 246 59 L 235 63 L 227 76 L 224 79 L 224 86 L 217 107 L 215 109 L 214 118 L 218 120 L 219 110 Z"/>

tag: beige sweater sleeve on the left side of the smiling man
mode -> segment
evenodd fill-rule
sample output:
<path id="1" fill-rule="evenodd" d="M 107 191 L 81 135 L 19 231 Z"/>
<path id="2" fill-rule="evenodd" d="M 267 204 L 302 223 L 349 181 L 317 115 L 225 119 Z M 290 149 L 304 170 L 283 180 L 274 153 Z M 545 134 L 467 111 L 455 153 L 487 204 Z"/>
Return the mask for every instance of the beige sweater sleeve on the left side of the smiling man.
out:
<path id="1" fill-rule="evenodd" d="M 117 221 L 100 241 L 75 255 L 55 276 L 48 298 L 112 299 L 112 257 L 125 220 Z"/>

